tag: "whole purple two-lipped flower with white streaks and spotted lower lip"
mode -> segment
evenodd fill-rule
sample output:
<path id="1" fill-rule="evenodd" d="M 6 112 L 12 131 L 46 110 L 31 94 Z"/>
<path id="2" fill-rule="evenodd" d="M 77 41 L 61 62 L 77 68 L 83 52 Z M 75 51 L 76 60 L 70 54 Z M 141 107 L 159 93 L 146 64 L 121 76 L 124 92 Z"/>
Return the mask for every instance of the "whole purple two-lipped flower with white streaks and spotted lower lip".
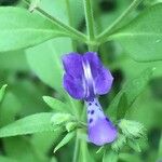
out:
<path id="1" fill-rule="evenodd" d="M 70 53 L 63 57 L 66 73 L 64 87 L 76 99 L 84 99 L 87 107 L 89 139 L 102 146 L 113 141 L 117 130 L 103 112 L 97 96 L 106 94 L 112 85 L 112 76 L 96 53 Z"/>

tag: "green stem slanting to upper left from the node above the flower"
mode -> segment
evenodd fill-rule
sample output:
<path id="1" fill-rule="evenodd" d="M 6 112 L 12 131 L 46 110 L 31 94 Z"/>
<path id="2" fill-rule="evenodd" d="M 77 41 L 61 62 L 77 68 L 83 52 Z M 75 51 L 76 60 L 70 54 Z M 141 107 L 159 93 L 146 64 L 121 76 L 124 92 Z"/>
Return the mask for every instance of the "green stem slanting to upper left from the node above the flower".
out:
<path id="1" fill-rule="evenodd" d="M 24 0 L 24 2 L 28 5 L 30 5 L 30 3 L 27 2 L 26 0 Z M 83 42 L 86 42 L 86 36 L 83 35 L 82 32 L 78 31 L 77 29 L 72 28 L 71 26 L 64 24 L 59 19 L 51 16 L 50 14 L 48 14 L 45 11 L 43 11 L 40 8 L 36 8 L 36 10 L 38 12 L 40 12 L 43 16 L 45 16 L 49 21 L 51 21 L 52 23 L 54 23 L 55 25 L 57 25 L 58 27 L 60 27 L 62 29 L 67 31 L 69 35 L 72 35 L 76 39 L 83 41 Z"/>

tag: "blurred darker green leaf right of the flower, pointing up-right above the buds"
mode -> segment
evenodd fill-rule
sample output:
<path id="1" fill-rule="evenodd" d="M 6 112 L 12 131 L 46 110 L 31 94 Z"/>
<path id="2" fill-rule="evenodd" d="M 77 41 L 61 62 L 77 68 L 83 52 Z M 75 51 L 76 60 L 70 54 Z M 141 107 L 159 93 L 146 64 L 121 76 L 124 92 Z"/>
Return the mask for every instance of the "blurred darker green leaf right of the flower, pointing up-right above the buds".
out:
<path id="1" fill-rule="evenodd" d="M 150 80 L 150 78 L 152 76 L 153 70 L 154 70 L 154 68 L 149 68 L 149 69 L 144 70 L 140 73 L 140 76 L 138 76 L 137 78 L 127 82 L 123 86 L 123 89 L 117 94 L 117 96 L 113 98 L 113 100 L 111 102 L 111 104 L 108 108 L 108 114 L 110 117 L 117 118 L 117 114 L 119 113 L 118 110 L 119 110 L 119 108 L 121 108 L 121 107 L 119 107 L 119 104 L 120 104 L 120 100 L 121 100 L 121 97 L 123 96 L 123 94 L 125 95 L 126 103 L 127 103 L 127 107 L 126 107 L 126 109 L 124 107 L 123 111 L 126 112 L 129 110 L 129 108 L 133 105 L 135 99 L 145 90 L 148 81 Z"/>

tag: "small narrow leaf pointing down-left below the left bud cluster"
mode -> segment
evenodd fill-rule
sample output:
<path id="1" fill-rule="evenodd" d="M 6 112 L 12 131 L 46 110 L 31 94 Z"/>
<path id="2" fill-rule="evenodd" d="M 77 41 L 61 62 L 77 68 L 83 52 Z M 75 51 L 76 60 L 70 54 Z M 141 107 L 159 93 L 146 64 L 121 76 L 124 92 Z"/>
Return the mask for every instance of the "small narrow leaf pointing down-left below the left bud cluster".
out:
<path id="1" fill-rule="evenodd" d="M 70 132 L 68 133 L 63 139 L 62 141 L 55 147 L 54 152 L 56 152 L 59 148 L 62 148 L 63 146 L 65 146 L 66 144 L 68 144 L 76 135 L 76 132 Z"/>

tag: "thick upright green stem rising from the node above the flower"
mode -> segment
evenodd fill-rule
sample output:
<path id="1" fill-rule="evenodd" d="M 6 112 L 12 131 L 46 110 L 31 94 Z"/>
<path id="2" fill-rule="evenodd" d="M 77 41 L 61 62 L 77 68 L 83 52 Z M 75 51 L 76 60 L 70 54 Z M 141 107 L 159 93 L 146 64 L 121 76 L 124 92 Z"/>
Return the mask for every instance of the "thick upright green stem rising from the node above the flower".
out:
<path id="1" fill-rule="evenodd" d="M 92 2 L 91 0 L 83 0 L 83 3 L 84 3 L 85 22 L 86 22 L 89 40 L 94 41 L 95 32 L 94 32 L 94 18 L 93 18 Z"/>

